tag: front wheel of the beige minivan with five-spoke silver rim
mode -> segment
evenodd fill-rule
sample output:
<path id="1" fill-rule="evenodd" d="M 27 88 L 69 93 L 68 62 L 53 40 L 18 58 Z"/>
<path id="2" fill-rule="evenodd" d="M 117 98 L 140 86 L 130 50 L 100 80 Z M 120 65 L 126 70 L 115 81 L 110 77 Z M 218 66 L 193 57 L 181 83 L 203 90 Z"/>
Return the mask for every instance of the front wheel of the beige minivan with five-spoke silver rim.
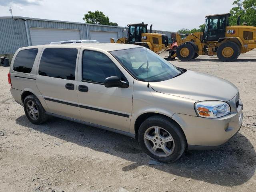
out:
<path id="1" fill-rule="evenodd" d="M 160 130 L 159 138 L 155 134 L 155 127 Z M 145 138 L 148 135 L 152 140 Z M 167 138 L 172 138 L 173 140 L 164 142 Z M 182 156 L 186 148 L 186 138 L 180 126 L 162 116 L 152 116 L 142 122 L 138 130 L 138 142 L 148 156 L 166 163 L 176 161 Z M 168 153 L 162 150 L 165 147 L 168 149 Z M 157 148 L 154 153 L 151 152 L 153 148 Z"/>

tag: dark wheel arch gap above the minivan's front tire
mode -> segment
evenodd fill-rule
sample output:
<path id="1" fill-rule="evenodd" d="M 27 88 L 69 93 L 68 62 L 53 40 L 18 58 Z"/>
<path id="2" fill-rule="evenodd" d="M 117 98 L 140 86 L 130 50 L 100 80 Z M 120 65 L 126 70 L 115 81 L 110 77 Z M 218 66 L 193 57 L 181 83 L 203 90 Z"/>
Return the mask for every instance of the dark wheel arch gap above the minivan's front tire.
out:
<path id="1" fill-rule="evenodd" d="M 142 124 L 142 122 L 144 122 L 144 120 L 146 120 L 147 118 L 151 117 L 151 116 L 161 116 L 164 118 L 168 118 L 169 120 L 171 120 L 172 122 L 174 122 L 175 124 L 177 124 L 180 127 L 180 130 L 182 131 L 182 133 L 184 134 L 184 137 L 186 139 L 186 135 L 183 131 L 183 129 L 181 128 L 180 124 L 178 124 L 178 122 L 176 122 L 174 119 L 170 118 L 167 115 L 164 114 L 160 114 L 160 113 L 154 113 L 154 112 L 146 112 L 144 114 L 141 114 L 140 116 L 137 117 L 135 123 L 134 123 L 134 131 L 135 131 L 135 138 L 138 139 L 138 130 L 140 128 L 140 125 Z M 187 142 L 187 140 L 186 140 Z"/>

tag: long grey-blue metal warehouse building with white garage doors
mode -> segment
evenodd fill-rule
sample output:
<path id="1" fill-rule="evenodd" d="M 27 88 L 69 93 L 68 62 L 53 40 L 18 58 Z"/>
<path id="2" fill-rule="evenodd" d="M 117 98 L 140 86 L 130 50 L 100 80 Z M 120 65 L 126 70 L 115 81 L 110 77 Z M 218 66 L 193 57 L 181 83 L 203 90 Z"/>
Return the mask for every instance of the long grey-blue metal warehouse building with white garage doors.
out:
<path id="1" fill-rule="evenodd" d="M 124 28 L 127 27 L 27 17 L 0 17 L 0 54 L 14 54 L 18 48 L 24 46 L 64 40 L 93 39 L 109 43 L 110 38 L 127 36 L 127 30 Z M 159 30 L 156 32 L 166 34 L 168 38 L 174 33 Z"/>

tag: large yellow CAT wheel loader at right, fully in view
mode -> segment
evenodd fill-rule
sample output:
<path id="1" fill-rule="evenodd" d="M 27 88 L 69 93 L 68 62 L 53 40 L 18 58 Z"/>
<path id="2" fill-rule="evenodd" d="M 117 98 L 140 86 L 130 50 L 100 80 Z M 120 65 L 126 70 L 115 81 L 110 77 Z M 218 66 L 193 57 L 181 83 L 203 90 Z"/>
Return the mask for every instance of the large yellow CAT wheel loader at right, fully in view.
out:
<path id="1" fill-rule="evenodd" d="M 240 16 L 236 26 L 229 26 L 229 16 L 229 13 L 206 16 L 204 31 L 186 34 L 183 39 L 177 33 L 178 48 L 169 52 L 169 59 L 190 61 L 199 55 L 217 55 L 221 61 L 229 62 L 256 48 L 256 27 L 240 26 Z"/>

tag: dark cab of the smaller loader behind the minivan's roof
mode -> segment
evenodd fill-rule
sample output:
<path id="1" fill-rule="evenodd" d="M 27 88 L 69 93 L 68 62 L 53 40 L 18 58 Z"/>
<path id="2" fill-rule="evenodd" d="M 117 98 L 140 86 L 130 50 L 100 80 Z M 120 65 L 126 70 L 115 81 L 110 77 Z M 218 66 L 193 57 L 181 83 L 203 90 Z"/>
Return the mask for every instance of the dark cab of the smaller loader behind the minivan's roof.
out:
<path id="1" fill-rule="evenodd" d="M 135 44 L 136 42 L 141 42 L 141 34 L 147 33 L 148 24 L 139 23 L 139 24 L 129 24 L 128 25 L 128 43 Z"/>

